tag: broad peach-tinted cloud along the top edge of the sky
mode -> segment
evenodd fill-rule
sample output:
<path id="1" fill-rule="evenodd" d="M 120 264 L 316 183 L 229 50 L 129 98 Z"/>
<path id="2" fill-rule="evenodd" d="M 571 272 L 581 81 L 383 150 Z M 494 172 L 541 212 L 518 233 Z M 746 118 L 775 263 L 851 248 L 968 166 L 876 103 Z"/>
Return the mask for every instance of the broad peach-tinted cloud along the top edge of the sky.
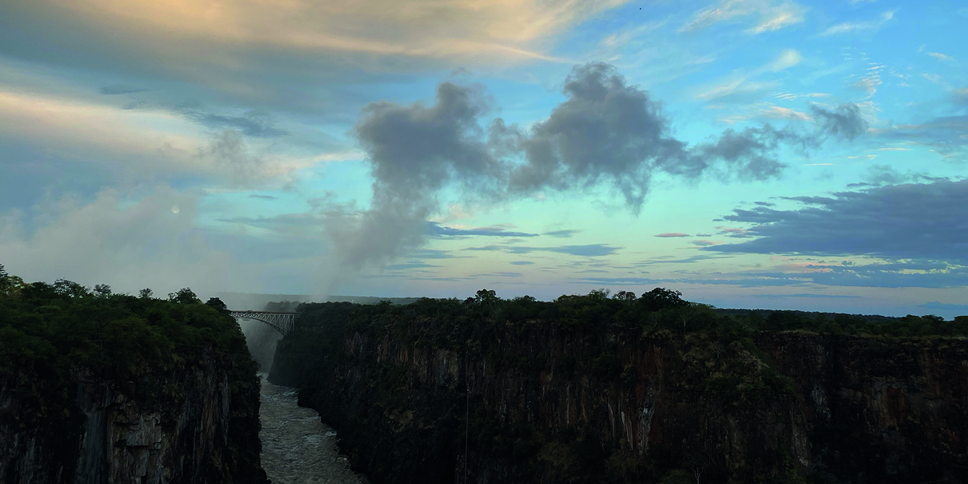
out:
<path id="1" fill-rule="evenodd" d="M 316 2 L 269 0 L 176 4 L 123 0 L 78 0 L 68 4 L 29 2 L 15 7 L 15 17 L 47 19 L 63 30 L 113 39 L 114 50 L 151 52 L 173 63 L 185 51 L 217 67 L 240 64 L 260 52 L 302 50 L 341 53 L 367 62 L 369 56 L 425 58 L 544 58 L 531 49 L 590 15 L 623 0 L 540 2 L 452 2 L 407 4 L 392 0 Z M 56 21 L 51 22 L 50 18 Z M 44 27 L 50 30 L 52 27 Z M 105 35 L 110 32 L 110 37 Z M 119 41 L 120 40 L 120 41 Z M 194 47 L 191 50 L 187 47 Z M 196 64 L 196 65 L 193 65 Z"/>

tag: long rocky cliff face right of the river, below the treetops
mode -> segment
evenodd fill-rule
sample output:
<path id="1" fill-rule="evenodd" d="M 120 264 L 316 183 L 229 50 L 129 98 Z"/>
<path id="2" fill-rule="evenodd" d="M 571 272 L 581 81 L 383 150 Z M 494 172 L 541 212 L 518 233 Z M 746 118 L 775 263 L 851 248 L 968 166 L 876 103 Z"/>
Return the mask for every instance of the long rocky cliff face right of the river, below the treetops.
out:
<path id="1" fill-rule="evenodd" d="M 968 343 L 806 332 L 723 338 L 433 320 L 348 327 L 271 379 L 375 482 L 960 482 Z M 379 324 L 377 324 L 379 326 Z M 311 340 L 311 338 L 309 338 Z M 450 341 L 450 343 L 448 343 Z M 456 342 L 455 342 L 456 341 Z M 448 348 L 449 347 L 449 348 Z"/>

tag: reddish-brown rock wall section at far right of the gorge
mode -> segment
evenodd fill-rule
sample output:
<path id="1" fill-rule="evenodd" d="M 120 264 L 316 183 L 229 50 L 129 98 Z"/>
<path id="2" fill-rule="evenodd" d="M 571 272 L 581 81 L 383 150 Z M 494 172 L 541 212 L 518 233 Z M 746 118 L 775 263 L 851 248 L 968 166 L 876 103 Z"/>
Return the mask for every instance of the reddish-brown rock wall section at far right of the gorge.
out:
<path id="1" fill-rule="evenodd" d="M 846 482 L 968 478 L 968 343 L 763 333 L 796 382 L 813 469 Z"/>

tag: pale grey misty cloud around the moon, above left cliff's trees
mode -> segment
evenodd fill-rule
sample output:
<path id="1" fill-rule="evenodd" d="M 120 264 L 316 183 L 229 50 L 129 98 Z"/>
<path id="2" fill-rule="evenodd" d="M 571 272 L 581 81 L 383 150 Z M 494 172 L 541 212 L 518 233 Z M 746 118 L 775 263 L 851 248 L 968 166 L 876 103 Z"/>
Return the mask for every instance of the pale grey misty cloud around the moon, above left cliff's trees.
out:
<path id="1" fill-rule="evenodd" d="M 0 213 L 0 263 L 28 281 L 66 278 L 131 292 L 147 285 L 159 295 L 245 281 L 252 266 L 233 261 L 194 227 L 198 201 L 166 186 L 106 189 L 90 200 L 65 196 Z"/>

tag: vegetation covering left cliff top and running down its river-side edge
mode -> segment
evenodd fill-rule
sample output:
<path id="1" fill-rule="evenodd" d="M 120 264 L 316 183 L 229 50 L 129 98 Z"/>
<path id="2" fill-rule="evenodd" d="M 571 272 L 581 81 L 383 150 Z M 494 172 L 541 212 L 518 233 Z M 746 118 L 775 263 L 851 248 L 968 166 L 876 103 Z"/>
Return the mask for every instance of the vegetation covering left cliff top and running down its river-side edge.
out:
<path id="1" fill-rule="evenodd" d="M 25 284 L 0 265 L 0 379 L 14 393 L 3 396 L 0 425 L 13 432 L 42 423 L 75 432 L 79 380 L 109 385 L 174 425 L 186 389 L 171 377 L 200 371 L 203 360 L 227 374 L 228 448 L 216 457 L 223 482 L 264 482 L 257 365 L 221 301 L 202 304 L 188 288 L 158 299 L 150 289 L 131 296 L 65 280 Z"/>

